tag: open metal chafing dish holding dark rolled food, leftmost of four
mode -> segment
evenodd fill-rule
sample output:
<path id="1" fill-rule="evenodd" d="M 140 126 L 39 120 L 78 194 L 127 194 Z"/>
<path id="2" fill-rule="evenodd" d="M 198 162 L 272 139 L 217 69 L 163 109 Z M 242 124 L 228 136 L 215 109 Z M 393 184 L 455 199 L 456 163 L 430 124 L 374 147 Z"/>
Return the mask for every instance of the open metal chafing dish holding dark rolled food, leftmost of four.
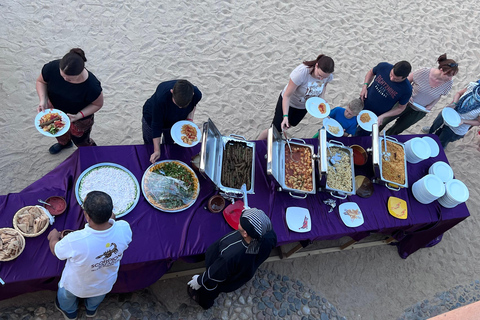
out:
<path id="1" fill-rule="evenodd" d="M 203 124 L 202 148 L 200 151 L 199 171 L 205 177 L 212 180 L 215 185 L 226 193 L 243 194 L 241 188 L 231 188 L 222 184 L 222 164 L 225 146 L 229 142 L 245 143 L 252 148 L 252 173 L 250 183 L 247 185 L 247 193 L 253 194 L 255 184 L 255 142 L 247 141 L 237 135 L 222 136 L 211 119 Z"/>

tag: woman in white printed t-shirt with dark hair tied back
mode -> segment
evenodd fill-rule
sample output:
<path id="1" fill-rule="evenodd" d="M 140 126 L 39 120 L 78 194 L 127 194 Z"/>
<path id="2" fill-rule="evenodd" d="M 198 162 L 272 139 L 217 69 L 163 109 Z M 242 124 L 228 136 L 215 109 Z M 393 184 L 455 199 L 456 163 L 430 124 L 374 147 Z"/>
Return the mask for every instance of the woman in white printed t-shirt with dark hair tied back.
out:
<path id="1" fill-rule="evenodd" d="M 290 74 L 288 84 L 278 97 L 272 124 L 278 132 L 296 126 L 307 114 L 305 102 L 310 97 L 324 99 L 327 84 L 333 80 L 335 63 L 326 55 L 304 61 Z M 263 130 L 258 140 L 267 139 L 268 129 Z"/>

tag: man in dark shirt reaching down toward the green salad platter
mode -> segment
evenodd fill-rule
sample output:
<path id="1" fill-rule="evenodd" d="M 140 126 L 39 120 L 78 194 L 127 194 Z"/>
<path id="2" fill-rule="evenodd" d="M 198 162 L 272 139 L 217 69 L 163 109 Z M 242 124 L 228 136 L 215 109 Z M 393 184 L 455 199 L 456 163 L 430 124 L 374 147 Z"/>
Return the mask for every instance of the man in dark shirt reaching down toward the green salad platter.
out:
<path id="1" fill-rule="evenodd" d="M 160 158 L 162 134 L 164 143 L 173 143 L 170 129 L 180 120 L 193 121 L 195 107 L 202 93 L 187 80 L 165 81 L 143 105 L 142 133 L 145 144 L 153 143 L 150 162 Z"/>

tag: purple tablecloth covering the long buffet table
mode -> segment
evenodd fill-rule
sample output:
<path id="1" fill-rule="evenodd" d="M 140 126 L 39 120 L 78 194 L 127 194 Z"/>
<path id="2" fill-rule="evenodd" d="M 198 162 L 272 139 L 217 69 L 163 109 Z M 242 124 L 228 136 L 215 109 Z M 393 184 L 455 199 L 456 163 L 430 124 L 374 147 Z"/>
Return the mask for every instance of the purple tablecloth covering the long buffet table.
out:
<path id="1" fill-rule="evenodd" d="M 401 142 L 414 136 L 398 136 Z M 436 136 L 432 137 L 439 143 Z M 368 148 L 371 137 L 338 138 L 345 145 L 359 144 Z M 317 140 L 307 139 L 307 143 L 317 145 Z M 443 149 L 436 158 L 424 160 L 418 164 L 408 164 L 408 182 L 415 181 L 428 173 L 428 168 L 436 161 L 447 161 Z M 182 148 L 178 145 L 162 146 L 161 159 L 176 159 L 190 164 L 192 156 L 200 151 L 200 146 Z M 266 212 L 271 218 L 278 236 L 278 245 L 297 241 L 338 239 L 350 236 L 360 240 L 370 233 L 393 235 L 397 240 L 398 253 L 402 258 L 426 247 L 445 231 L 469 216 L 465 204 L 454 209 L 446 209 L 437 201 L 423 205 L 415 200 L 410 188 L 392 191 L 382 185 L 375 185 L 370 198 L 356 195 L 345 200 L 337 199 L 337 206 L 329 213 L 330 207 L 323 200 L 333 198 L 327 192 L 317 192 L 306 199 L 292 198 L 287 192 L 278 191 L 275 182 L 266 174 L 265 141 L 256 142 L 255 194 L 248 196 L 249 205 Z M 20 193 L 0 196 L 0 227 L 12 227 L 13 215 L 27 205 L 36 205 L 37 199 L 46 199 L 58 195 L 66 198 L 67 212 L 57 216 L 53 226 L 42 235 L 26 238 L 23 253 L 15 260 L 0 262 L 0 278 L 5 285 L 0 287 L 0 300 L 19 294 L 56 290 L 64 267 L 49 250 L 47 235 L 56 228 L 80 229 L 85 224 L 80 206 L 75 198 L 77 177 L 88 167 L 113 162 L 128 168 L 141 184 L 144 171 L 150 165 L 151 146 L 105 146 L 81 147 L 53 171 L 36 181 Z M 371 159 L 366 165 L 355 167 L 355 174 L 373 176 Z M 122 217 L 133 230 L 133 241 L 125 252 L 121 262 L 118 281 L 113 292 L 129 292 L 147 287 L 157 281 L 171 267 L 175 260 L 195 257 L 206 251 L 207 247 L 232 229 L 222 214 L 212 214 L 206 209 L 208 199 L 218 193 L 215 185 L 197 172 L 200 180 L 200 194 L 189 209 L 178 213 L 165 213 L 153 208 L 143 197 L 135 209 Z M 408 218 L 400 220 L 387 211 L 390 196 L 402 198 L 408 204 Z M 335 199 L 335 198 L 333 198 Z M 346 227 L 341 221 L 338 206 L 347 201 L 356 202 L 362 210 L 365 223 L 357 228 Z M 292 232 L 285 222 L 285 210 L 298 206 L 308 208 L 311 214 L 312 229 L 307 233 Z"/>

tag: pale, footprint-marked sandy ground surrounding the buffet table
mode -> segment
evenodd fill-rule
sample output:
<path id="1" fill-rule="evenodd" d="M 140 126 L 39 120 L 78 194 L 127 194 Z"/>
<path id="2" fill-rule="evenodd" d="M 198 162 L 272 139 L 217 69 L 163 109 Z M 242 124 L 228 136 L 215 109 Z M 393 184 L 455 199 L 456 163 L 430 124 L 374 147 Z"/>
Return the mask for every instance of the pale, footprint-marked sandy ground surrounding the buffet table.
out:
<path id="1" fill-rule="evenodd" d="M 479 4 L 466 1 L 98 1 L 4 0 L 0 3 L 0 194 L 19 192 L 61 163 L 52 138 L 33 126 L 35 80 L 44 63 L 72 47 L 102 82 L 104 107 L 92 137 L 99 145 L 140 144 L 141 110 L 159 82 L 186 78 L 203 92 L 195 115 L 223 134 L 255 139 L 273 117 L 289 73 L 319 53 L 335 60 L 326 98 L 357 97 L 378 62 L 436 66 L 446 52 L 458 61 L 454 90 L 406 133 L 430 124 L 455 91 L 479 78 Z M 307 115 L 295 137 L 311 137 Z M 391 319 L 435 292 L 478 279 L 479 171 L 477 130 L 448 146 L 458 179 L 470 188 L 472 216 L 434 248 L 402 260 L 375 247 L 267 264 L 296 277 L 349 319 Z M 172 282 L 175 282 L 172 280 Z M 166 289 L 168 290 L 168 289 Z M 183 294 L 183 292 L 182 292 Z"/>

